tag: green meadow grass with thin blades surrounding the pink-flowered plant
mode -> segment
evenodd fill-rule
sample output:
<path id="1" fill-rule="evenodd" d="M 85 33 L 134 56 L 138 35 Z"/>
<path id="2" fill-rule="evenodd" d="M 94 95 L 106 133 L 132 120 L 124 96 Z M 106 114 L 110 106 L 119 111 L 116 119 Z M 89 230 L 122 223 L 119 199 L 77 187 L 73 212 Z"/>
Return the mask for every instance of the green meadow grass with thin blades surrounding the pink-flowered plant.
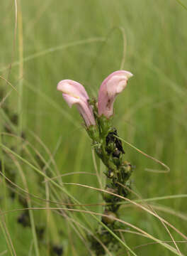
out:
<path id="1" fill-rule="evenodd" d="M 115 102 L 113 125 L 125 142 L 170 171 L 124 142 L 125 157 L 136 166 L 132 196 L 131 201 L 123 198 L 118 216 L 123 228 L 116 239 L 123 249 L 115 254 L 105 248 L 106 253 L 186 255 L 183 4 L 2 1 L 0 255 L 52 255 L 51 245 L 62 245 L 66 256 L 94 255 L 86 235 L 96 235 L 101 223 L 104 169 L 93 159 L 76 108 L 69 109 L 56 85 L 76 80 L 97 97 L 103 79 L 119 69 L 134 77 Z M 18 114 L 18 124 L 5 106 Z M 14 180 L 7 164 L 16 173 Z M 10 191 L 15 191 L 14 199 Z M 29 208 L 30 227 L 17 221 L 23 208 Z M 42 242 L 38 227 L 45 227 Z"/>

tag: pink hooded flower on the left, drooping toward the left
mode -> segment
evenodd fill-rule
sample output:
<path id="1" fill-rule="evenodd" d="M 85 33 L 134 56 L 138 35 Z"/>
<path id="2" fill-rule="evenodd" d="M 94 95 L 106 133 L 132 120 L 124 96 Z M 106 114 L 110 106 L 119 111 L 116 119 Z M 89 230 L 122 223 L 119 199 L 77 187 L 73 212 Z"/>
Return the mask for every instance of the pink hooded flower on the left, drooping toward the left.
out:
<path id="1" fill-rule="evenodd" d="M 58 83 L 57 90 L 62 92 L 62 97 L 64 97 L 69 107 L 72 107 L 74 104 L 77 105 L 77 109 L 83 117 L 86 127 L 96 124 L 92 107 L 88 102 L 89 96 L 83 85 L 73 80 L 62 80 Z"/>

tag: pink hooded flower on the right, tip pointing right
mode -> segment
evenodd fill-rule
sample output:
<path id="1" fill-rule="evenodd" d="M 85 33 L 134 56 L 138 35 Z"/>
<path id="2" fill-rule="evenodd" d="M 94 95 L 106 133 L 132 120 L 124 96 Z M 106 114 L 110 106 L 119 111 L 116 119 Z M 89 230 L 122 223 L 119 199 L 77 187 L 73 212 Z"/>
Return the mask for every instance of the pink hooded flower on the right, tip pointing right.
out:
<path id="1" fill-rule="evenodd" d="M 131 78 L 132 74 L 125 70 L 119 70 L 111 73 L 102 82 L 98 92 L 98 115 L 102 114 L 109 118 L 113 115 L 113 102 L 115 97 L 122 92 L 127 83 L 128 78 Z"/>

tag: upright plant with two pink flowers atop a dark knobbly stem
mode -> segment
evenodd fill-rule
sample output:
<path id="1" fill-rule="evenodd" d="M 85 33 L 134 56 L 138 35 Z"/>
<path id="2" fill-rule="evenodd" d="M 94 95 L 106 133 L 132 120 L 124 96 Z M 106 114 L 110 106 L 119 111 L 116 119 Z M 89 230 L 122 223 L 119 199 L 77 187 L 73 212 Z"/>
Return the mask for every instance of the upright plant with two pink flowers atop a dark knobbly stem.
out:
<path id="1" fill-rule="evenodd" d="M 79 82 L 62 80 L 57 85 L 57 90 L 62 92 L 62 97 L 69 107 L 77 106 L 77 110 L 84 119 L 86 132 L 91 137 L 94 150 L 106 166 L 104 174 L 107 177 L 106 192 L 109 193 L 103 193 L 103 200 L 107 204 L 102 221 L 113 230 L 115 225 L 113 217 L 118 215 L 121 199 L 110 192 L 119 196 L 128 196 L 132 166 L 124 159 L 125 151 L 111 120 L 115 98 L 120 92 L 123 92 L 131 77 L 132 73 L 125 70 L 118 70 L 108 75 L 101 83 L 98 101 L 90 100 L 84 86 Z M 105 245 L 111 247 L 111 250 L 116 249 L 116 241 L 113 241 L 110 233 L 99 228 L 97 234 Z M 96 250 L 97 255 L 104 253 L 103 248 L 96 240 L 91 240 L 91 247 Z"/>

